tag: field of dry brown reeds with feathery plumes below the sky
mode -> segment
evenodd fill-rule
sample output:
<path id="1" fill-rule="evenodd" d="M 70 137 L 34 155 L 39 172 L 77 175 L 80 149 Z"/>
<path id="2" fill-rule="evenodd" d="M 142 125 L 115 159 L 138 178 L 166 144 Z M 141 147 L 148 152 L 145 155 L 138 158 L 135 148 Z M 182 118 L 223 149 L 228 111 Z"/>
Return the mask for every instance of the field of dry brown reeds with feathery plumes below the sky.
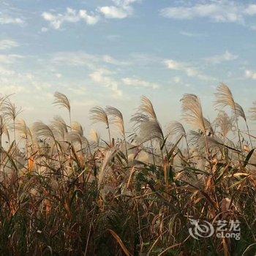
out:
<path id="1" fill-rule="evenodd" d="M 85 135 L 60 92 L 65 116 L 47 124 L 2 96 L 0 255 L 256 255 L 256 102 L 244 110 L 225 84 L 213 93 L 214 121 L 194 94 L 169 124 L 147 97 L 130 120 L 96 106 L 102 136 Z M 191 219 L 238 221 L 241 238 L 194 238 Z"/>

